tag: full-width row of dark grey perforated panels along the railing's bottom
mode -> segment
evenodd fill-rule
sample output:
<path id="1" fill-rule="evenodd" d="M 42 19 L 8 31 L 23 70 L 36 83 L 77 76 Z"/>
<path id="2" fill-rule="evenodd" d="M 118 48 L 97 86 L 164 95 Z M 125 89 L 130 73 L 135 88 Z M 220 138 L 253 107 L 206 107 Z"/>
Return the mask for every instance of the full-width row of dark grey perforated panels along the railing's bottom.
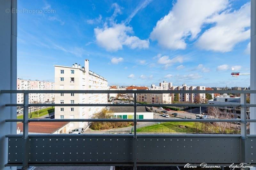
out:
<path id="1" fill-rule="evenodd" d="M 22 163 L 22 138 L 8 140 L 8 163 Z M 246 140 L 248 162 L 256 160 L 255 141 Z M 132 163 L 133 142 L 132 136 L 30 137 L 28 162 Z M 138 136 L 136 143 L 137 163 L 239 163 L 241 157 L 241 139 L 237 137 Z"/>

